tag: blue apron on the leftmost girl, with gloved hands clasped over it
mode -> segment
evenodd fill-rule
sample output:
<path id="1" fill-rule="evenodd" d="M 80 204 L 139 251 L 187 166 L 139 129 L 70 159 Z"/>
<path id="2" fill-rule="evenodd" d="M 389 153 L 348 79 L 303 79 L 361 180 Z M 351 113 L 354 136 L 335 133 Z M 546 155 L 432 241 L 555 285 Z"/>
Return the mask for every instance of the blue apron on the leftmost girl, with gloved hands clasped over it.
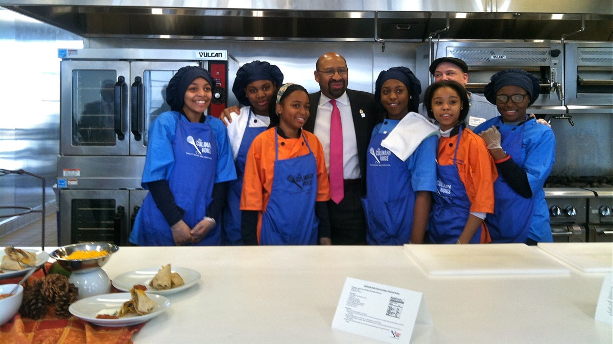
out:
<path id="1" fill-rule="evenodd" d="M 189 141 L 188 141 L 189 140 Z M 217 143 L 210 125 L 178 121 L 172 141 L 175 165 L 170 172 L 169 186 L 177 206 L 185 210 L 183 221 L 194 228 L 211 204 L 217 166 Z M 159 211 L 153 197 L 148 194 L 139 211 L 143 226 L 139 241 L 145 246 L 175 245 L 170 226 Z M 207 236 L 194 245 L 221 244 L 219 223 Z"/>

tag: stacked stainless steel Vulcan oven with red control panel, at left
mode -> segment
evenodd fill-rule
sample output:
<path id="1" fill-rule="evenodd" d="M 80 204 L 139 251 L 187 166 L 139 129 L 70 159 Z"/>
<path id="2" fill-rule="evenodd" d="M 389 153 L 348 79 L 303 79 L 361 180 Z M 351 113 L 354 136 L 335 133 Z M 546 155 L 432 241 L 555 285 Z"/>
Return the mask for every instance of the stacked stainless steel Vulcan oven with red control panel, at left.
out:
<path id="1" fill-rule="evenodd" d="M 227 107 L 227 76 L 236 72 L 236 62 L 226 50 L 60 49 L 58 57 L 59 245 L 127 245 L 147 195 L 140 179 L 148 128 L 170 110 L 168 81 L 185 65 L 208 69 L 216 85 L 207 112 L 219 116 Z"/>

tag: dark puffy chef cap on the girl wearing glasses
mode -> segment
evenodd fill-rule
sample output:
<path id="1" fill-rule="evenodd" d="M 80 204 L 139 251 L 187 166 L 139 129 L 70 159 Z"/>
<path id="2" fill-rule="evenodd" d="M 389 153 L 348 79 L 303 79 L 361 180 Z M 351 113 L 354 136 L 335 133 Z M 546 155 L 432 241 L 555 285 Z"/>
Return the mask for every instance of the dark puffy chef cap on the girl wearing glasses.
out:
<path id="1" fill-rule="evenodd" d="M 530 94 L 528 106 L 532 105 L 541 93 L 541 85 L 538 78 L 523 69 L 511 68 L 501 70 L 492 75 L 490 80 L 490 83 L 485 85 L 483 94 L 494 105 L 496 104 L 496 93 L 504 86 L 519 86 L 525 89 Z"/>

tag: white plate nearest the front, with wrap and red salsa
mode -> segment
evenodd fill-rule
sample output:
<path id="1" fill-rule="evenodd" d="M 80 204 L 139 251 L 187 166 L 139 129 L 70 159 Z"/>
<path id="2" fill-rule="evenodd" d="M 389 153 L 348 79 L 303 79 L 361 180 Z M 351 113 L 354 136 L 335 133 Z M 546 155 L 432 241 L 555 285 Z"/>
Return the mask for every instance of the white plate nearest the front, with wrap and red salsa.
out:
<path id="1" fill-rule="evenodd" d="M 132 299 L 130 293 L 112 293 L 86 297 L 71 304 L 68 310 L 77 318 L 99 326 L 131 326 L 155 318 L 162 314 L 166 308 L 170 307 L 169 299 L 164 296 L 156 294 L 148 294 L 147 296 L 155 304 L 153 305 L 153 310 L 144 315 L 132 313 L 119 316 L 116 319 L 96 318 L 96 316 L 118 316 L 123 304 Z"/>

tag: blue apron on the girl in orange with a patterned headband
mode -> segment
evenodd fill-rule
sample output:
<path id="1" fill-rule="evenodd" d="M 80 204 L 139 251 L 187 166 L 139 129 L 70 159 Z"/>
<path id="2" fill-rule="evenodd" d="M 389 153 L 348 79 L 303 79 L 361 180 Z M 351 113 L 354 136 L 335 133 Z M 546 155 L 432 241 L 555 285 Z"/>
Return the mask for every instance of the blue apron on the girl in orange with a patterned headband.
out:
<path id="1" fill-rule="evenodd" d="M 275 175 L 270 199 L 262 214 L 260 245 L 316 245 L 317 162 L 304 134 L 309 154 L 279 160 L 275 128 Z"/>

